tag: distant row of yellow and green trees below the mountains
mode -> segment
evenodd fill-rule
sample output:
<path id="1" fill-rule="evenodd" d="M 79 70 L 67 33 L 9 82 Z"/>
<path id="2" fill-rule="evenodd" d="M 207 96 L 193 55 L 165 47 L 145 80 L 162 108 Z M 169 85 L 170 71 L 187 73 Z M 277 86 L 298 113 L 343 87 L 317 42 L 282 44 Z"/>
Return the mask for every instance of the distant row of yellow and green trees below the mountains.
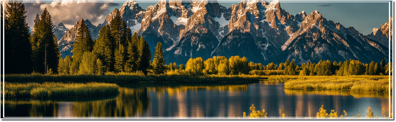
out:
<path id="1" fill-rule="evenodd" d="M 390 65 L 390 69 L 388 68 Z M 301 75 L 301 76 L 348 76 L 348 75 L 387 75 L 392 74 L 392 63 L 386 63 L 382 59 L 381 63 L 371 61 L 369 64 L 361 63 L 358 60 L 348 60 L 344 62 L 331 62 L 329 60 L 318 63 L 303 63 L 295 65 L 292 61 L 286 60 L 285 63 L 276 65 L 268 63 L 264 66 L 261 63 L 248 63 L 246 57 L 232 56 L 227 59 L 224 56 L 214 56 L 206 61 L 201 57 L 190 58 L 186 67 L 181 64 L 177 67 L 176 63 L 167 65 L 168 74 L 257 74 L 257 75 Z"/>

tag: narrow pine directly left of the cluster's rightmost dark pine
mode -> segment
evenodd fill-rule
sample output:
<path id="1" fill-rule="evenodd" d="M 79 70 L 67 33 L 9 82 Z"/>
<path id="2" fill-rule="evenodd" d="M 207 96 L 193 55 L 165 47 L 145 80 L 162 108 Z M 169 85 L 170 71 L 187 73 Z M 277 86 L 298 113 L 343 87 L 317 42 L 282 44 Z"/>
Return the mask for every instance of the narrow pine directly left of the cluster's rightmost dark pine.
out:
<path id="1" fill-rule="evenodd" d="M 138 68 L 138 59 L 139 59 L 139 52 L 137 50 L 137 34 L 134 33 L 131 37 L 131 41 L 128 42 L 128 50 L 127 56 L 128 59 L 125 65 L 126 72 L 134 72 L 137 71 Z"/>

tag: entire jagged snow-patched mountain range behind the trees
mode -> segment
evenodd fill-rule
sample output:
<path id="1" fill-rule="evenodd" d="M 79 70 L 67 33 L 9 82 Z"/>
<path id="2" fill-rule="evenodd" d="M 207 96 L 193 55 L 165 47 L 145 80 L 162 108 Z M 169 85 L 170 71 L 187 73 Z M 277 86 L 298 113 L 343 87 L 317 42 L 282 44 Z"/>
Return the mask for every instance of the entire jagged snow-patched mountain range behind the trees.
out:
<path id="1" fill-rule="evenodd" d="M 369 63 L 388 57 L 389 22 L 364 36 L 353 27 L 327 21 L 318 11 L 290 15 L 277 1 L 242 1 L 230 8 L 217 2 L 160 1 L 147 10 L 128 1 L 120 13 L 131 31 L 147 40 L 153 54 L 157 42 L 162 43 L 166 63 L 217 55 L 240 55 L 255 63 L 295 59 L 297 64 L 320 59 Z M 98 26 L 86 20 L 94 39 L 114 15 L 111 12 Z M 75 31 L 73 27 L 58 41 L 63 57 L 72 55 Z"/>

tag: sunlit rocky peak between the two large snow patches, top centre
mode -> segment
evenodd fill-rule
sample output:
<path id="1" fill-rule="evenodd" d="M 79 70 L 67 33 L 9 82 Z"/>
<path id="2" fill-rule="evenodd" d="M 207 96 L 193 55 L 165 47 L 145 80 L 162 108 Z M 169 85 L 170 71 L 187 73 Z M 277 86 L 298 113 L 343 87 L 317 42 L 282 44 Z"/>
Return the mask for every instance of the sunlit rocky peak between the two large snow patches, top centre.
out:
<path id="1" fill-rule="evenodd" d="M 180 31 L 180 40 L 171 47 L 167 59 L 169 62 L 186 62 L 191 57 L 211 57 L 211 52 L 219 43 L 218 38 L 224 32 L 224 14 L 227 12 L 225 7 L 217 2 L 195 2 L 188 3 L 192 15 L 188 18 L 183 30 Z M 227 16 L 226 16 L 227 17 Z M 223 24 L 223 30 L 220 27 Z"/>

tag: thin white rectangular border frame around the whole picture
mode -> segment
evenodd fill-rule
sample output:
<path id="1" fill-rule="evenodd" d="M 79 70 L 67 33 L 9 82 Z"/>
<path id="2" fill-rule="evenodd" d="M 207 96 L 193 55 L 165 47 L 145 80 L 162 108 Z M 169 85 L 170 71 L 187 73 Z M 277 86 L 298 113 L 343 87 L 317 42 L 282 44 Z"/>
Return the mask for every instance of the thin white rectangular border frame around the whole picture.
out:
<path id="1" fill-rule="evenodd" d="M 157 2 L 156 0 L 136 0 L 137 2 Z M 2 5 L 4 5 L 4 2 L 6 2 L 6 1 L 1 1 L 2 2 Z M 8 2 L 8 1 L 7 1 Z M 22 1 L 22 2 L 54 2 L 54 1 L 51 1 L 51 0 L 40 0 L 40 1 Z M 56 2 L 81 2 L 81 1 L 76 1 L 76 0 L 73 0 L 73 1 L 56 1 Z M 117 1 L 93 1 L 93 0 L 89 0 L 89 1 L 84 1 L 84 2 L 123 2 L 124 3 L 124 1 L 120 1 L 120 0 L 117 0 Z M 174 0 L 171 0 L 171 1 L 168 1 L 168 2 L 174 2 Z M 176 2 L 176 1 L 175 1 Z M 200 1 L 194 1 L 194 2 L 200 2 Z M 240 0 L 219 0 L 219 1 L 217 1 L 217 2 L 241 2 Z M 348 0 L 348 1 L 337 1 L 337 0 L 330 0 L 330 1 L 317 1 L 317 0 L 303 0 L 303 1 L 294 1 L 294 0 L 285 0 L 285 1 L 279 1 L 279 2 L 387 2 L 388 3 L 388 7 L 389 7 L 389 13 L 388 13 L 388 16 L 389 16 L 389 19 L 388 19 L 388 21 L 390 20 L 390 1 L 372 1 L 372 0 Z M 392 3 L 393 3 L 393 1 L 392 1 Z M 394 6 L 393 6 L 394 4 L 392 4 L 392 10 L 394 10 Z M 5 9 L 6 7 L 5 6 L 3 6 L 3 17 L 5 17 L 5 11 L 4 11 L 4 9 Z M 394 17 L 393 16 L 394 15 L 394 13 L 392 13 L 392 17 Z M 392 18 L 393 19 L 393 18 Z M 3 18 L 3 25 L 2 25 L 2 27 L 3 27 L 3 30 L 4 30 L 4 18 Z M 390 24 L 390 23 L 389 23 Z M 393 26 L 393 20 L 392 20 L 392 26 Z M 389 30 L 390 30 L 390 26 L 389 26 Z M 2 32 L 3 33 L 3 35 L 4 35 L 4 32 Z M 390 35 L 390 31 L 389 31 L 389 35 Z M 2 37 L 3 38 L 3 40 L 4 40 L 4 37 Z M 392 38 L 393 38 L 393 36 L 392 36 Z M 394 45 L 393 45 L 393 41 L 392 41 L 392 51 L 394 51 Z M 5 107 L 5 94 L 4 94 L 4 86 L 5 86 L 5 73 L 4 73 L 4 65 L 5 65 L 5 63 L 4 63 L 4 41 L 3 41 L 3 63 L 2 63 L 2 65 L 3 65 L 3 69 L 2 69 L 2 71 L 3 71 L 3 73 L 2 73 L 2 75 L 3 75 L 3 87 L 2 87 L 2 90 L 3 90 L 3 111 L 1 111 L 1 112 L 3 112 L 3 114 L 2 114 L 2 118 L 1 119 L 5 119 L 5 120 L 21 120 L 21 119 L 30 119 L 30 120 L 53 120 L 53 119 L 60 119 L 60 120 L 81 120 L 81 119 L 84 119 L 84 120 L 97 120 L 97 119 L 100 119 L 100 120 L 112 120 L 112 119 L 116 119 L 116 118 L 118 118 L 118 119 L 129 119 L 129 120 L 148 120 L 148 119 L 152 119 L 152 120 L 172 120 L 172 119 L 187 119 L 187 120 L 193 120 L 193 119 L 202 119 L 202 120 L 224 120 L 224 119 L 229 119 L 229 120 L 247 120 L 247 118 L 248 117 L 5 117 L 5 115 L 4 115 L 4 111 L 5 111 L 5 109 L 4 109 L 4 107 Z M 389 47 L 390 47 L 391 45 L 390 45 L 390 38 L 389 38 Z M 390 63 L 390 62 L 392 62 L 393 63 L 393 61 L 390 61 L 390 54 L 392 54 L 392 59 L 394 59 L 394 55 L 393 55 L 393 52 L 390 52 L 390 48 L 388 49 L 389 50 L 389 58 L 388 58 L 388 63 Z M 392 67 L 394 68 L 394 64 L 392 64 Z M 390 65 L 389 65 L 389 68 L 390 68 Z M 392 69 L 393 69 L 392 68 Z M 392 72 L 392 75 L 390 75 L 390 72 L 389 72 L 389 84 L 390 84 L 390 76 L 392 76 L 392 82 L 393 82 L 393 72 Z M 393 86 L 392 86 L 392 88 L 394 88 Z M 389 90 L 390 90 L 390 85 L 389 85 Z M 393 90 L 393 89 L 392 89 Z M 392 92 L 392 101 L 394 101 L 394 98 L 393 98 L 393 96 L 394 96 L 394 93 Z M 331 117 L 258 117 L 258 118 L 248 118 L 248 119 L 251 119 L 251 120 L 265 120 L 265 119 L 267 119 L 267 120 L 307 120 L 307 119 L 312 119 L 312 120 L 345 120 L 345 119 L 351 119 L 351 118 L 353 118 L 354 120 L 393 120 L 394 118 L 390 118 L 390 113 L 391 113 L 391 108 L 390 108 L 390 92 L 389 92 L 389 103 L 388 103 L 388 106 L 389 106 L 389 117 L 337 117 L 337 118 L 331 118 Z M 394 112 L 393 109 L 394 108 L 394 102 L 392 102 L 392 113 Z"/>

